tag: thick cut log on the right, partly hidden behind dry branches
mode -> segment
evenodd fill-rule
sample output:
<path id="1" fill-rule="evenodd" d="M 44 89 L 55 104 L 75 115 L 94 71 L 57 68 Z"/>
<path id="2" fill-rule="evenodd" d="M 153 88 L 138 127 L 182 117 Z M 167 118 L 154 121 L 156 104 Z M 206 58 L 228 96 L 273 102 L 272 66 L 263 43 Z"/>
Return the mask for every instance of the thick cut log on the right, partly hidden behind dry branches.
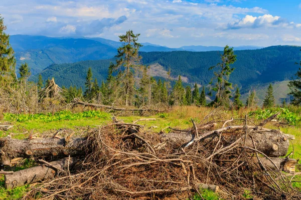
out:
<path id="1" fill-rule="evenodd" d="M 227 127 L 220 128 L 220 129 L 227 130 L 226 128 Z M 208 134 L 208 132 L 205 132 L 203 134 L 199 133 L 200 135 L 199 138 L 207 134 L 207 136 L 204 136 L 202 139 L 204 139 L 205 141 L 210 141 L 214 137 L 216 137 L 216 134 L 218 133 L 218 131 L 215 132 L 214 130 L 209 132 L 210 134 Z M 252 136 L 255 142 L 256 148 L 259 151 L 265 153 L 266 155 L 271 157 L 279 157 L 279 156 L 286 155 L 289 146 L 289 140 L 288 140 L 288 136 L 283 132 L 281 132 L 280 130 L 262 129 L 260 131 L 252 131 L 250 135 Z M 186 144 L 191 143 L 192 141 L 196 141 L 195 135 L 187 131 L 186 132 L 176 131 L 176 132 L 166 133 L 163 134 L 163 139 L 172 142 L 178 146 L 185 146 Z M 216 137 L 216 139 L 218 139 L 218 137 Z M 243 139 L 241 140 L 241 142 L 244 142 Z M 249 147 L 254 147 L 253 141 L 250 136 L 247 137 L 245 145 Z"/>

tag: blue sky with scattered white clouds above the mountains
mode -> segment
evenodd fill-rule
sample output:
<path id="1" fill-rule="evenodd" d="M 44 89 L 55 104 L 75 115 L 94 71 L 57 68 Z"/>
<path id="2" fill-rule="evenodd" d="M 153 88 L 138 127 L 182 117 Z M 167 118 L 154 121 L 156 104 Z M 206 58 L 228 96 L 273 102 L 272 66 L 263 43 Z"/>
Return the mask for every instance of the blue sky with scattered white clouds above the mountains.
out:
<path id="1" fill-rule="evenodd" d="M 139 42 L 301 45 L 301 0 L 0 0 L 9 34 L 102 37 L 129 29 Z"/>

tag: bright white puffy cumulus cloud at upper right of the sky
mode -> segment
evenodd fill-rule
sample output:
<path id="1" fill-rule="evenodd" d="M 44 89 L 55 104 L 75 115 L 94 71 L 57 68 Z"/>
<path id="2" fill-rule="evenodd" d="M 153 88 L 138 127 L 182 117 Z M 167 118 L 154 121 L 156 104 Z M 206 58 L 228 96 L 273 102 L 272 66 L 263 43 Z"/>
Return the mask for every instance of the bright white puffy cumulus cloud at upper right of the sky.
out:
<path id="1" fill-rule="evenodd" d="M 293 25 L 293 22 L 288 22 L 287 19 L 280 16 L 273 16 L 271 14 L 264 14 L 262 16 L 246 15 L 245 17 L 228 23 L 227 29 L 240 28 L 258 28 L 258 27 L 277 27 Z"/>

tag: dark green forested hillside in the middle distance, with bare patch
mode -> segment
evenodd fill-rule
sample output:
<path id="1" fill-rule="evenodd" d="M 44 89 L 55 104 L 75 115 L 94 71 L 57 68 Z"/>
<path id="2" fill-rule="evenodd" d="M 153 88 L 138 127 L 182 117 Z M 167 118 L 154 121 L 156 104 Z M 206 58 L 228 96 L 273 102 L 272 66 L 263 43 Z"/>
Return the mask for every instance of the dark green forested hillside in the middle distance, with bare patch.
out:
<path id="1" fill-rule="evenodd" d="M 208 68 L 220 61 L 221 51 L 141 52 L 140 54 L 143 64 L 150 65 L 150 72 L 156 78 L 166 79 L 168 68 L 171 68 L 173 78 L 182 75 L 186 84 L 197 82 L 200 85 L 207 85 L 213 77 L 213 72 Z M 294 63 L 300 60 L 300 47 L 270 46 L 256 50 L 239 50 L 235 51 L 235 54 L 237 54 L 237 61 L 233 64 L 235 70 L 231 74 L 230 81 L 241 87 L 241 93 L 248 93 L 254 85 L 266 85 L 271 81 L 290 79 L 298 69 L 298 65 Z M 109 62 L 113 60 L 53 64 L 41 74 L 44 80 L 55 77 L 60 85 L 84 86 L 89 66 L 92 67 L 94 76 L 101 82 L 107 75 Z M 37 75 L 32 77 L 32 80 L 37 80 Z M 261 89 L 262 86 L 257 88 Z M 264 89 L 262 95 L 258 91 L 260 98 L 265 95 Z M 283 95 L 287 93 L 286 89 L 279 89 L 277 94 L 282 90 Z M 284 98 L 283 95 L 279 95 L 279 98 Z M 280 101 L 282 102 L 280 99 L 278 103 Z"/>

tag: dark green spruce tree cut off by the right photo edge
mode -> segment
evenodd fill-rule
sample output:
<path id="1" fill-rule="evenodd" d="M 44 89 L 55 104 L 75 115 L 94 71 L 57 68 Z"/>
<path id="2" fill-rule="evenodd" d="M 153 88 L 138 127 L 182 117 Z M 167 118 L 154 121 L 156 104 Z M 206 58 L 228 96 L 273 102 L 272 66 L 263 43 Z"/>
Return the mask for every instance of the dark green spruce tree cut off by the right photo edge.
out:
<path id="1" fill-rule="evenodd" d="M 300 66 L 301 66 L 301 61 L 300 61 Z M 291 94 L 293 96 L 291 103 L 294 105 L 299 105 L 301 103 L 301 68 L 300 67 L 295 75 L 297 76 L 297 78 L 294 80 L 290 80 L 288 83 L 290 89 L 290 92 L 288 94 Z"/>

